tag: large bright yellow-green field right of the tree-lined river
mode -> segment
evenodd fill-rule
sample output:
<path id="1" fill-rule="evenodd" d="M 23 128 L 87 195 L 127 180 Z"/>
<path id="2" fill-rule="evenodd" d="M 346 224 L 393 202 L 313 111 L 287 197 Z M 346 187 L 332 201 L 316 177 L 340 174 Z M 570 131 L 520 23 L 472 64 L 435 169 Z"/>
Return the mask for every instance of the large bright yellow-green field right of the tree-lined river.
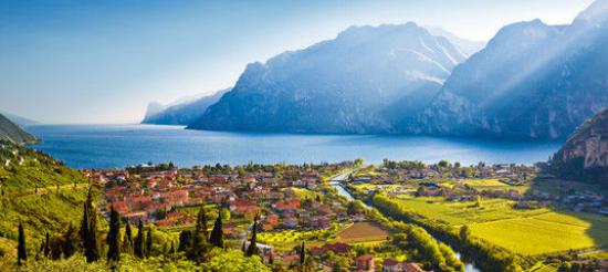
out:
<path id="1" fill-rule="evenodd" d="M 549 209 L 517 210 L 505 199 L 447 202 L 443 198 L 401 198 L 412 212 L 451 226 L 468 224 L 473 236 L 526 255 L 608 245 L 608 218 L 557 212 Z"/>

